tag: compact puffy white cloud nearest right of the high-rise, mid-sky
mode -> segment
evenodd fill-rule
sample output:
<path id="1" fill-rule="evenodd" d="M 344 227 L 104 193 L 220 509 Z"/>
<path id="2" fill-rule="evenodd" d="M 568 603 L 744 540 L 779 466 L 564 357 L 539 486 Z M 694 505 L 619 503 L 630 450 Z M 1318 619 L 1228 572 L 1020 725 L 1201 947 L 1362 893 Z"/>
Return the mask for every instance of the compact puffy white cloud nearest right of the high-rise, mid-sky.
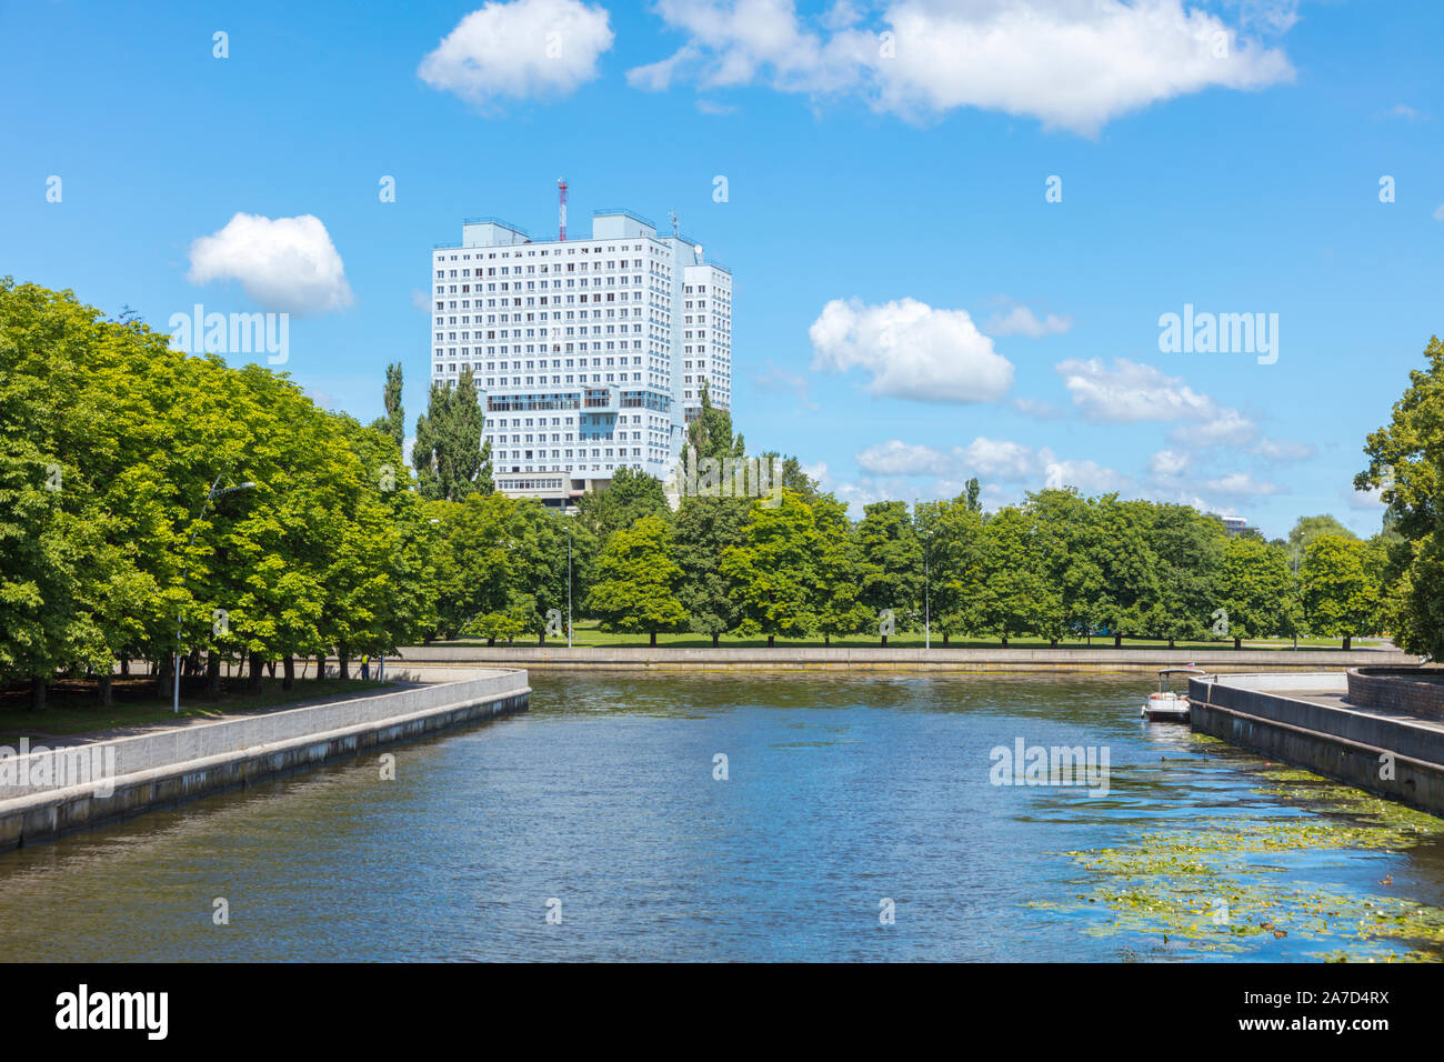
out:
<path id="1" fill-rule="evenodd" d="M 807 335 L 813 368 L 861 368 L 878 396 L 995 402 L 1012 386 L 1012 363 L 962 309 L 933 309 L 917 299 L 881 306 L 833 299 Z"/>

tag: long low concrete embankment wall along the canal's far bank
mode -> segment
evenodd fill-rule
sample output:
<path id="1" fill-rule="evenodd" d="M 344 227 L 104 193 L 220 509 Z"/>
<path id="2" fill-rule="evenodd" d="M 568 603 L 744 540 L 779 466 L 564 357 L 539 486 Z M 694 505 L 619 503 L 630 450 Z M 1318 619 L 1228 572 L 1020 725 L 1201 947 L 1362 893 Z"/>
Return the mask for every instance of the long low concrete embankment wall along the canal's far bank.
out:
<path id="1" fill-rule="evenodd" d="M 1412 665 L 1399 652 L 1292 649 L 648 649 L 645 646 L 409 646 L 407 665 L 596 668 L 614 670 L 939 670 L 939 672 L 1155 672 L 1194 663 L 1212 672 L 1320 670 Z M 394 659 L 387 663 L 391 673 Z"/>

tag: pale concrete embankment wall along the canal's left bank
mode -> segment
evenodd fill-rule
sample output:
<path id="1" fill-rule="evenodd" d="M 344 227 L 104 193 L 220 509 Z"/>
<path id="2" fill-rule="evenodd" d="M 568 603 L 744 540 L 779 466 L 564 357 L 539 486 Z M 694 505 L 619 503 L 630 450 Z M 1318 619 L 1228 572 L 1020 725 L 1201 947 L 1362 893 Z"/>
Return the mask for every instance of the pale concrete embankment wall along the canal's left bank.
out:
<path id="1" fill-rule="evenodd" d="M 0 851 L 524 711 L 531 694 L 523 670 L 407 670 L 387 678 L 442 681 L 12 757 L 0 787 Z"/>

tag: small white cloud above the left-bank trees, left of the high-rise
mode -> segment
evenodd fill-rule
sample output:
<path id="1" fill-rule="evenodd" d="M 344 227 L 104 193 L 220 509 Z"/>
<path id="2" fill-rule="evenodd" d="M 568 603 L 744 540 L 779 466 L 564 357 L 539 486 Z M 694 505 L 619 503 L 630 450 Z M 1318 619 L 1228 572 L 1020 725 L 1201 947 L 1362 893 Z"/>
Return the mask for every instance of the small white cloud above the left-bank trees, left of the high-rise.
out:
<path id="1" fill-rule="evenodd" d="M 354 302 L 345 266 L 321 220 L 237 214 L 191 244 L 193 285 L 238 280 L 269 311 L 323 314 Z"/>

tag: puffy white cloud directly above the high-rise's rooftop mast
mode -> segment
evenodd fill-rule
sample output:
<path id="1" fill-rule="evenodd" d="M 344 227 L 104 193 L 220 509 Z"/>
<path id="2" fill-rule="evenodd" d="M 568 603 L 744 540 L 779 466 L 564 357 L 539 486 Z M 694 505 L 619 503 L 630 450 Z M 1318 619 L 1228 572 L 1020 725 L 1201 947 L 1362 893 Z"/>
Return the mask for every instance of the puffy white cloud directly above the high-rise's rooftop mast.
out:
<path id="1" fill-rule="evenodd" d="M 488 3 L 458 22 L 416 72 L 478 105 L 554 98 L 596 78 L 614 36 L 606 9 L 579 0 Z"/>

